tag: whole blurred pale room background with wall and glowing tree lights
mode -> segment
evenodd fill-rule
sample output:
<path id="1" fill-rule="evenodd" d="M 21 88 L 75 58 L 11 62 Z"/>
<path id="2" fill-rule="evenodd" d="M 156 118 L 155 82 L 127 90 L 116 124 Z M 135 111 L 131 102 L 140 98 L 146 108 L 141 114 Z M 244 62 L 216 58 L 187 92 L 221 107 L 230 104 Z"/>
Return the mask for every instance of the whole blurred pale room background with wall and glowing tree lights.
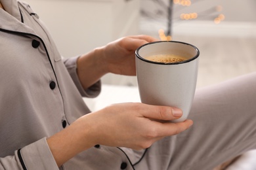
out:
<path id="1" fill-rule="evenodd" d="M 26 1 L 65 58 L 126 35 L 147 34 L 200 49 L 198 88 L 256 70 L 255 0 Z M 102 82 L 137 86 L 131 76 L 108 74 Z"/>

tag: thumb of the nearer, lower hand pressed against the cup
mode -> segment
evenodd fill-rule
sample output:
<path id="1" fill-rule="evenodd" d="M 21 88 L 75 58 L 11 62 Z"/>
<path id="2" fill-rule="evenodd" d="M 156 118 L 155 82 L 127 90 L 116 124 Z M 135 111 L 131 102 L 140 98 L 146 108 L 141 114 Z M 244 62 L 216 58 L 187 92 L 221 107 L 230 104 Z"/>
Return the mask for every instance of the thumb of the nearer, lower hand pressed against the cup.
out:
<path id="1" fill-rule="evenodd" d="M 145 105 L 147 108 L 142 112 L 146 118 L 156 120 L 175 120 L 182 116 L 182 110 L 175 107 Z"/>

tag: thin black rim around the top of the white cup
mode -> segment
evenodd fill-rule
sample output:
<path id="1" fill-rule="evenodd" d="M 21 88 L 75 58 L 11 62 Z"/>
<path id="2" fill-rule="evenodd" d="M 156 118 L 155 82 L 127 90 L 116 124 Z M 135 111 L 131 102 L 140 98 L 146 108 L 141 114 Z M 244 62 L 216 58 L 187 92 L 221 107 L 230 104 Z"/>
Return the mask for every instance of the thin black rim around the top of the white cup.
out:
<path id="1" fill-rule="evenodd" d="M 186 44 L 188 46 L 192 46 L 192 48 L 194 48 L 196 50 L 196 56 L 194 56 L 193 58 L 190 58 L 190 59 L 186 59 L 185 61 L 179 61 L 179 62 L 175 62 L 175 63 L 161 63 L 161 62 L 156 62 L 156 61 L 150 61 L 148 59 L 144 59 L 142 58 L 140 55 L 139 55 L 139 50 L 140 48 L 144 47 L 144 46 L 147 46 L 149 44 L 155 44 L 155 43 L 161 43 L 161 42 L 175 42 L 175 43 L 180 43 L 180 44 Z M 182 63 L 188 63 L 196 58 L 199 57 L 199 54 L 200 54 L 200 51 L 198 50 L 198 48 L 192 44 L 189 44 L 187 42 L 181 42 L 181 41 L 154 41 L 154 42 L 148 42 L 146 44 L 143 44 L 142 46 L 139 46 L 139 48 L 137 48 L 137 50 L 135 50 L 135 54 L 136 54 L 136 57 L 143 60 L 143 61 L 146 61 L 148 63 L 154 63 L 154 64 L 160 64 L 160 65 L 178 65 L 178 64 L 182 64 Z"/>

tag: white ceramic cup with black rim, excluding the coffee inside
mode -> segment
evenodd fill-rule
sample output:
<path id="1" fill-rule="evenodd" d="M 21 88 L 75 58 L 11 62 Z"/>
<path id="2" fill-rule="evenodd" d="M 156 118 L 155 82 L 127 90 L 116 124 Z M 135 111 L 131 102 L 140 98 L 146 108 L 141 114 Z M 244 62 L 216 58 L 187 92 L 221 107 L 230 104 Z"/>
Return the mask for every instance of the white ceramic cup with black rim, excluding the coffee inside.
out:
<path id="1" fill-rule="evenodd" d="M 135 54 L 142 103 L 177 107 L 183 114 L 171 122 L 186 120 L 196 90 L 200 54 L 198 48 L 185 42 L 156 41 L 140 46 Z M 176 54 L 186 60 L 160 63 L 145 59 L 156 54 Z"/>

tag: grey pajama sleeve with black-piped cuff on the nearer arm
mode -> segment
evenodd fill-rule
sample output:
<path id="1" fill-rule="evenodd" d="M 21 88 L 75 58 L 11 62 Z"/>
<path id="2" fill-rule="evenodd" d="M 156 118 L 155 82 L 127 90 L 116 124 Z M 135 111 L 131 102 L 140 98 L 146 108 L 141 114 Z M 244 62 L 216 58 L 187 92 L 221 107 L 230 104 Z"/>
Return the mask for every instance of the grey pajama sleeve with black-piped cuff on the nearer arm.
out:
<path id="1" fill-rule="evenodd" d="M 15 151 L 14 156 L 0 158 L 0 169 L 51 169 L 59 170 L 46 138 Z"/>

